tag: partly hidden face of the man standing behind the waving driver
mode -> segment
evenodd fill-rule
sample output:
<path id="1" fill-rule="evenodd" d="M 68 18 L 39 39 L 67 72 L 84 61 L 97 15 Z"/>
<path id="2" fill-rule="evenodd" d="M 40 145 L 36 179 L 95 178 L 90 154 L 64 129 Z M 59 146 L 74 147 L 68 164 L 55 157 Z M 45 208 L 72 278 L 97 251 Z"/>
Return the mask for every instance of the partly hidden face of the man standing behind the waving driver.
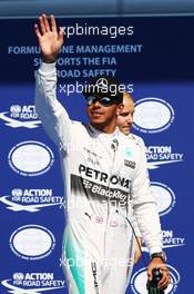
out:
<path id="1" fill-rule="evenodd" d="M 131 98 L 124 97 L 123 105 L 124 107 L 118 116 L 118 126 L 123 134 L 129 135 L 130 128 L 133 124 L 134 102 Z"/>

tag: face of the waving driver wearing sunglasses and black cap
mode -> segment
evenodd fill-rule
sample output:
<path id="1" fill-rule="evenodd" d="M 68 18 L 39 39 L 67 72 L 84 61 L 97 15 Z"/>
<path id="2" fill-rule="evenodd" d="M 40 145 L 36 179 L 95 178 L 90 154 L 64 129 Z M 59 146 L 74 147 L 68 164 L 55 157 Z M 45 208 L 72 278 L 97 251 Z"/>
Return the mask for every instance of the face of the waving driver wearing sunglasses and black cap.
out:
<path id="1" fill-rule="evenodd" d="M 89 120 L 96 129 L 109 133 L 116 127 L 118 112 L 121 111 L 123 105 L 109 104 L 103 106 L 100 100 L 94 99 L 88 105 Z"/>

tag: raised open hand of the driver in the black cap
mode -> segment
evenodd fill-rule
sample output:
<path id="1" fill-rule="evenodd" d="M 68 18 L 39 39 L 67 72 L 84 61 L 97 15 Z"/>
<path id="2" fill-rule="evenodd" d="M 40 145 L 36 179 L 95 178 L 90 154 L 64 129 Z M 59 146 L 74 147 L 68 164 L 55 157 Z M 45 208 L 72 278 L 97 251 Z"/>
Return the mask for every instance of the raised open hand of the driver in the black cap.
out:
<path id="1" fill-rule="evenodd" d="M 54 61 L 63 45 L 63 28 L 60 28 L 58 33 L 54 17 L 51 16 L 50 26 L 45 14 L 42 14 L 40 17 L 41 32 L 37 23 L 34 24 L 34 29 L 43 58 L 51 62 Z"/>

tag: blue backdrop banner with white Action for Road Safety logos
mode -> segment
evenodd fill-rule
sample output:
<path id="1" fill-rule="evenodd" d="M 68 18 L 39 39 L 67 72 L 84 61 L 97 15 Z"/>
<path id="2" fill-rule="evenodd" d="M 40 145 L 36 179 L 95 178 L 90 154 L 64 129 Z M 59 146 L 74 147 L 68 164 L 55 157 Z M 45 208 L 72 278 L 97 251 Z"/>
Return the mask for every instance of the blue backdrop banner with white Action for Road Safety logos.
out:
<path id="1" fill-rule="evenodd" d="M 2 294 L 68 293 L 61 267 L 65 195 L 59 154 L 34 108 L 34 71 L 41 62 L 34 22 L 0 20 Z M 82 90 L 98 75 L 116 77 L 135 100 L 132 131 L 145 141 L 172 275 L 165 294 L 191 293 L 194 18 L 61 18 L 58 24 L 65 27 L 58 98 L 72 119 L 88 121 Z M 142 248 L 149 264 L 147 248 Z M 145 294 L 145 284 L 141 259 L 127 293 Z"/>

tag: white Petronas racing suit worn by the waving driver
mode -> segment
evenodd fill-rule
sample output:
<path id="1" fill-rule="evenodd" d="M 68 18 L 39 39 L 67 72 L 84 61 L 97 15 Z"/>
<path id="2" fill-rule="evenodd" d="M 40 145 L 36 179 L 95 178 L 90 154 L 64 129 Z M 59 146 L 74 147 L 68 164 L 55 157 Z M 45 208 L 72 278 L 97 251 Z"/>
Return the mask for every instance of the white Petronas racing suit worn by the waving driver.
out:
<path id="1" fill-rule="evenodd" d="M 123 294 L 133 259 L 133 233 L 126 220 L 133 223 L 133 209 L 150 252 L 162 251 L 146 161 L 119 129 L 110 135 L 70 120 L 57 100 L 54 63 L 42 63 L 37 74 L 35 107 L 60 151 L 69 293 Z"/>

